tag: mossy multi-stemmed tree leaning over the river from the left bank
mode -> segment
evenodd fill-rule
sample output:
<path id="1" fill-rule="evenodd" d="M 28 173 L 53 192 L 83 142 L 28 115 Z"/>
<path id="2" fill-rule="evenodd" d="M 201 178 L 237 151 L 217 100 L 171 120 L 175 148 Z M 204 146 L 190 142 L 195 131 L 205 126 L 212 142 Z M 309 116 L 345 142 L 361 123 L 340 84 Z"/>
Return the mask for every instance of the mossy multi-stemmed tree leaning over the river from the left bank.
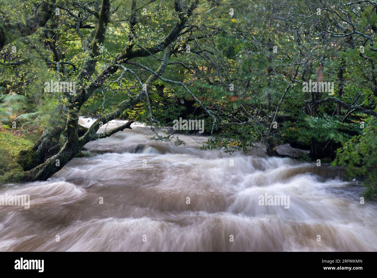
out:
<path id="1" fill-rule="evenodd" d="M 186 80 L 181 82 L 166 79 L 162 75 L 170 65 L 179 65 L 183 69 L 190 68 L 190 71 L 194 73 L 191 74 L 192 78 L 196 78 L 197 70 L 199 73 L 202 72 L 198 65 L 187 66 L 179 59 L 173 59 L 170 62 L 172 55 L 179 57 L 190 53 L 198 56 L 199 59 L 200 57 L 204 57 L 204 60 L 207 59 L 210 62 L 210 65 L 207 65 L 208 69 L 218 66 L 218 63 L 213 62 L 210 57 L 215 54 L 207 50 L 205 46 L 211 45 L 208 39 L 220 31 L 206 25 L 196 24 L 200 19 L 200 16 L 194 15 L 198 1 L 186 3 L 176 0 L 172 6 L 155 2 L 144 1 L 138 6 L 137 1 L 133 0 L 130 2 L 130 11 L 127 11 L 124 8 L 127 6 L 122 5 L 123 2 L 115 3 L 118 5 L 112 8 L 108 0 L 95 1 L 90 4 L 66 1 L 55 5 L 56 12 L 50 14 L 49 20 L 46 16 L 44 20 L 39 20 L 33 26 L 27 23 L 28 31 L 20 30 L 21 36 L 27 35 L 35 31 L 37 26 L 45 24 L 43 32 L 37 36 L 44 49 L 39 49 L 35 45 L 32 47 L 37 49 L 36 52 L 40 53 L 40 56 L 43 55 L 43 51 L 48 53 L 47 58 L 44 59 L 46 66 L 56 76 L 51 88 L 56 89 L 55 93 L 61 93 L 56 99 L 54 109 L 51 111 L 51 118 L 44 128 L 43 134 L 32 148 L 20 152 L 18 162 L 25 170 L 23 179 L 47 179 L 80 153 L 82 147 L 90 140 L 110 136 L 116 131 L 130 128 L 132 121 L 104 134 L 96 134 L 100 125 L 121 116 L 124 111 L 132 109 L 144 99 L 147 100 L 150 110 L 150 94 L 153 94 L 151 92 L 152 85 L 156 80 L 182 87 L 216 122 L 215 115 L 190 91 L 190 83 L 187 83 Z M 152 6 L 153 4 L 155 5 Z M 172 8 L 174 12 L 172 12 Z M 155 12 L 157 14 L 153 15 Z M 164 17 L 160 13 L 164 13 Z M 39 12 L 36 13 L 38 18 L 39 14 Z M 167 15 L 170 16 L 168 19 L 166 19 Z M 164 24 L 167 22 L 169 24 L 164 26 L 164 24 L 158 23 L 158 20 L 161 19 L 165 20 Z M 14 24 L 9 23 L 8 26 L 14 26 Z M 154 31 L 150 31 L 151 26 L 155 28 Z M 120 28 L 123 28 L 124 32 L 118 34 L 117 31 Z M 8 27 L 8 29 L 11 28 Z M 109 29 L 112 29 L 113 34 L 109 34 Z M 164 32 L 163 35 L 162 32 Z M 81 45 L 72 44 L 72 40 L 79 40 Z M 113 40 L 116 43 L 111 44 Z M 113 55 L 112 48 L 118 44 L 119 40 L 122 40 L 119 47 L 120 52 Z M 199 46 L 199 41 L 204 41 L 202 43 L 204 47 Z M 107 45 L 108 42 L 110 45 Z M 193 45 L 192 52 L 187 51 L 190 49 L 188 48 L 189 43 L 195 43 L 200 49 L 196 49 Z M 109 54 L 101 54 L 102 50 L 107 47 Z M 74 51 L 81 51 L 81 53 L 73 54 Z M 23 55 L 21 54 L 21 56 Z M 112 60 L 109 60 L 111 56 Z M 39 62 L 38 59 L 30 60 L 25 57 L 24 60 L 20 58 L 17 62 L 8 62 L 6 66 L 15 66 L 16 63 L 17 65 L 33 63 L 36 60 Z M 142 62 L 146 62 L 146 64 L 143 65 Z M 157 67 L 157 69 L 153 70 L 153 67 Z M 146 74 L 139 75 L 137 73 L 139 70 L 147 73 L 148 76 Z M 78 125 L 78 117 L 83 105 L 96 91 L 111 91 L 116 86 L 120 87 L 122 81 L 124 82 L 123 79 L 132 80 L 131 82 L 135 84 L 132 87 L 132 92 L 123 93 L 121 101 L 113 105 L 111 111 L 106 111 L 98 117 L 92 127 L 81 134 L 82 128 Z M 72 93 L 63 89 L 63 92 L 56 92 L 59 91 L 55 86 L 58 84 L 57 82 L 60 82 L 60 88 L 61 82 L 72 82 L 77 91 Z M 49 86 L 45 86 L 45 90 L 46 88 L 48 90 Z M 149 120 L 156 122 L 151 110 Z"/>

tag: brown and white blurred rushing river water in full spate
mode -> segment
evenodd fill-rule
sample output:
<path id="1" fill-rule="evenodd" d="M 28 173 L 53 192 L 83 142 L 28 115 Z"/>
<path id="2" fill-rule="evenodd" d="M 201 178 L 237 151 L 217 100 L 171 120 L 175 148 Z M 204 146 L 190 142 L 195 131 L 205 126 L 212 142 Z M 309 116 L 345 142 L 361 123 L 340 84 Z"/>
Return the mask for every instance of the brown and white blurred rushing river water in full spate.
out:
<path id="1" fill-rule="evenodd" d="M 360 204 L 342 171 L 151 136 L 133 124 L 48 181 L 1 188 L 31 203 L 0 206 L 0 251 L 377 251 L 377 205 Z M 266 193 L 289 195 L 289 208 L 259 205 Z"/>

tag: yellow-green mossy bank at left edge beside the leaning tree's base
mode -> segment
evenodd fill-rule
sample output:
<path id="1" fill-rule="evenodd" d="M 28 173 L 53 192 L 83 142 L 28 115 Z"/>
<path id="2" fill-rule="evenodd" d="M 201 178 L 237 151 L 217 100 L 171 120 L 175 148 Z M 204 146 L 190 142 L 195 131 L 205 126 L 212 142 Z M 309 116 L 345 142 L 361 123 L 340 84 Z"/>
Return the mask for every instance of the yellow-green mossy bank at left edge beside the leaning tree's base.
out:
<path id="1" fill-rule="evenodd" d="M 24 176 L 16 158 L 21 150 L 33 144 L 31 138 L 14 135 L 10 131 L 0 132 L 0 184 L 20 181 Z"/>

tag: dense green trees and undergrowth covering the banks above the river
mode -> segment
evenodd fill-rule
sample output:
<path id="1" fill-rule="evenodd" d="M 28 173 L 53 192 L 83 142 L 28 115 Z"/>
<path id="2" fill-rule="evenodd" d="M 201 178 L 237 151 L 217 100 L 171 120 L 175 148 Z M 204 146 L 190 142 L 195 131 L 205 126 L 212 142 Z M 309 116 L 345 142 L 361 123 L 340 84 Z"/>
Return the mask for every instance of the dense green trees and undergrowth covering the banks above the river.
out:
<path id="1" fill-rule="evenodd" d="M 204 148 L 263 143 L 282 156 L 275 146 L 289 143 L 377 194 L 377 2 L 3 0 L 0 20 L 1 136 L 32 141 L 2 165 L 5 180 L 46 179 L 129 128 L 98 135 L 101 122 L 182 117 L 205 120 Z M 46 90 L 50 80 L 76 91 Z M 97 118 L 89 130 L 83 115 Z"/>

